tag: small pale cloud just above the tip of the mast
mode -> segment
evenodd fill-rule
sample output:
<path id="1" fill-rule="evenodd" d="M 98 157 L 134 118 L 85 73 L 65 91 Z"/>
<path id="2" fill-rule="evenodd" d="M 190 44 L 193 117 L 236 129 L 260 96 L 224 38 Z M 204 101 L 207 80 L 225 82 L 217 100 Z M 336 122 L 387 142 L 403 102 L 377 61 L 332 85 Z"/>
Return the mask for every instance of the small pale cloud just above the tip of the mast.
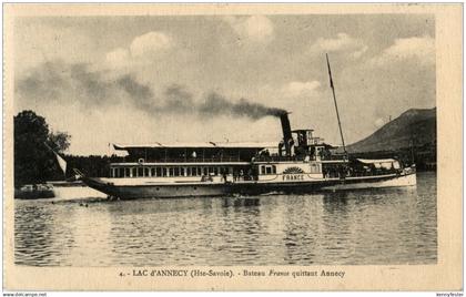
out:
<path id="1" fill-rule="evenodd" d="M 337 33 L 336 38 L 318 38 L 311 45 L 311 52 L 348 52 L 353 58 L 362 57 L 368 47 L 361 40 L 352 38 L 346 33 Z"/>

